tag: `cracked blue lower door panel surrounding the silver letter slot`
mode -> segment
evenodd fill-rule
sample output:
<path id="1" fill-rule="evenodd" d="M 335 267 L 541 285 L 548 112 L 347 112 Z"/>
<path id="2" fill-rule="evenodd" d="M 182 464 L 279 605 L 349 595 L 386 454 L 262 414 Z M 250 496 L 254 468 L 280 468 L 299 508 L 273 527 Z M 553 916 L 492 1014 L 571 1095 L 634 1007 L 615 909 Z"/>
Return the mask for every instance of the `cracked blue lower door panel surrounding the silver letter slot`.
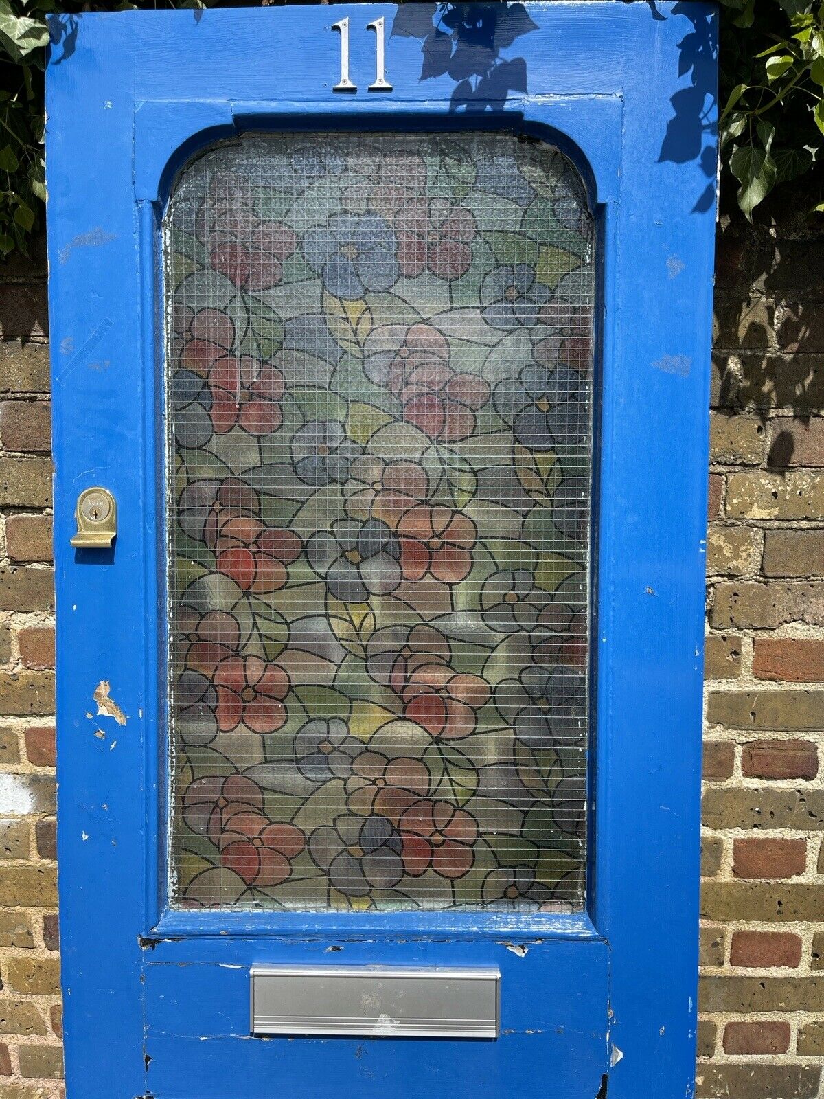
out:
<path id="1" fill-rule="evenodd" d="M 526 944 L 160 943 L 146 956 L 153 1099 L 593 1099 L 608 1070 L 609 950 Z M 253 1037 L 249 969 L 265 965 L 498 968 L 498 1039 Z M 288 1004 L 285 1004 L 288 1011 Z"/>

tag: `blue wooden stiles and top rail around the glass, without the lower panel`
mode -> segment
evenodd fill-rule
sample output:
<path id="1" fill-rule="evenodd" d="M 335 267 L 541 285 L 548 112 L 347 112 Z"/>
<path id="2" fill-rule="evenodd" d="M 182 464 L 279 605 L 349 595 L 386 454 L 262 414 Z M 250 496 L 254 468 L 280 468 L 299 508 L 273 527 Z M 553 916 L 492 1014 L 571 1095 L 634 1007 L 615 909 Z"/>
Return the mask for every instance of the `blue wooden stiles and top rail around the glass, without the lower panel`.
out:
<path id="1" fill-rule="evenodd" d="M 47 168 L 60 923 L 67 1069 L 69 1080 L 83 1079 L 89 1099 L 110 1099 L 112 1080 L 123 1080 L 123 1096 L 143 1086 L 135 1048 L 144 952 L 220 932 L 603 940 L 611 951 L 611 1096 L 635 1099 L 654 1088 L 675 1095 L 690 1086 L 714 225 L 708 164 L 716 107 L 714 12 L 702 3 L 684 8 L 531 5 L 557 53 L 525 37 L 539 88 L 483 114 L 456 113 L 443 77 L 421 84 L 417 44 L 407 38 L 387 43 L 401 89 L 394 97 L 335 97 L 315 86 L 300 57 L 274 71 L 272 40 L 291 34 L 320 43 L 334 73 L 338 40 L 326 32 L 335 18 L 389 20 L 393 5 L 53 20 Z M 231 70 L 226 59 L 238 56 L 232 49 L 240 42 L 245 65 Z M 691 64 L 679 65 L 687 57 Z M 353 43 L 353 65 L 368 71 L 370 64 Z M 681 106 L 689 96 L 686 114 L 698 112 L 698 131 Z M 595 809 L 589 904 L 580 915 L 350 918 L 165 907 L 162 212 L 178 169 L 215 140 L 365 123 L 544 136 L 576 162 L 597 214 Z M 94 484 L 110 488 L 119 504 L 111 552 L 69 546 L 76 497 Z M 92 1058 L 88 1034 L 101 1018 L 112 1022 Z"/>

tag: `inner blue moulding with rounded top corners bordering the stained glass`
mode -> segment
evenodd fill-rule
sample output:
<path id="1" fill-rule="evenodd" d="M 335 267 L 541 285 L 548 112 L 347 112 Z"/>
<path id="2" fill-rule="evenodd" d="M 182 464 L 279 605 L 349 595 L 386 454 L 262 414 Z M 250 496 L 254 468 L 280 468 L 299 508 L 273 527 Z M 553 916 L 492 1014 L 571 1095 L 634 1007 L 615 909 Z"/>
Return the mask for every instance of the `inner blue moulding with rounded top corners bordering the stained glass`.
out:
<path id="1" fill-rule="evenodd" d="M 300 104 L 278 104 L 277 102 L 233 102 L 199 101 L 187 103 L 181 101 L 147 101 L 138 103 L 135 110 L 135 163 L 140 163 L 140 171 L 135 171 L 135 198 L 141 218 L 141 266 L 151 281 L 145 286 L 156 288 L 153 306 L 145 310 L 147 332 L 144 340 L 146 357 L 144 358 L 144 378 L 162 379 L 164 373 L 163 353 L 163 315 L 164 293 L 162 274 L 162 232 L 163 215 L 174 190 L 178 173 L 191 162 L 192 157 L 208 148 L 215 141 L 236 137 L 243 133 L 276 132 L 276 133 L 350 133 L 353 131 L 386 132 L 396 127 L 404 132 L 443 132 L 449 133 L 472 129 L 487 132 L 515 132 L 528 134 L 561 149 L 575 164 L 587 188 L 591 212 L 595 221 L 595 257 L 597 257 L 597 293 L 603 302 L 604 312 L 614 309 L 614 273 L 609 258 L 614 249 L 606 242 L 613 240 L 615 229 L 614 208 L 619 195 L 620 159 L 621 159 L 621 126 L 623 103 L 620 97 L 542 97 L 539 102 L 531 100 L 504 104 L 499 116 L 491 120 L 480 119 L 467 126 L 463 119 L 444 118 L 443 102 L 424 102 L 413 111 L 387 111 L 386 103 L 369 100 L 363 113 L 353 111 L 350 102 L 333 103 L 332 110 L 326 102 L 307 102 Z M 220 122 L 218 120 L 221 120 Z M 160 142 L 157 134 L 163 134 Z M 155 140 L 153 141 L 153 135 Z M 175 144 L 186 135 L 180 144 Z M 603 263 L 599 257 L 603 255 Z M 152 276 L 151 273 L 157 273 Z M 146 299 L 148 300 L 148 299 Z M 154 318 L 154 320 L 149 320 Z M 611 356 L 610 333 L 598 325 L 597 348 L 594 354 L 594 391 L 602 379 L 602 363 Z M 148 382 L 147 382 L 148 384 Z M 162 385 L 163 382 L 160 382 Z M 147 401 L 151 407 L 159 407 L 162 395 L 155 395 Z M 599 415 L 600 398 L 597 396 L 594 417 Z M 165 530 L 165 504 L 163 485 L 167 476 L 164 463 L 164 446 L 162 425 L 158 432 L 157 418 L 151 413 L 145 425 L 145 437 L 154 439 L 154 448 L 146 446 L 146 460 L 153 463 L 152 475 L 147 470 L 148 484 L 157 486 L 148 507 L 155 509 L 155 514 L 162 517 L 159 524 L 159 541 L 155 558 L 158 586 L 164 584 L 163 562 L 168 545 Z M 593 444 L 593 480 L 601 460 L 602 446 L 598 440 Z M 592 530 L 597 528 L 597 499 L 592 508 Z M 597 582 L 597 554 L 594 545 L 591 553 L 591 591 L 590 607 L 594 608 Z M 151 590 L 151 589 L 149 589 Z M 152 608 L 147 606 L 147 614 Z M 592 640 L 592 639 L 591 639 Z M 162 652 L 168 651 L 168 639 L 165 622 L 156 619 L 149 639 L 147 667 L 152 667 L 151 654 L 155 647 Z M 591 644 L 590 655 L 590 688 L 591 702 L 597 692 L 597 646 Z M 160 680 L 165 673 L 163 663 L 155 662 Z M 167 709 L 164 698 L 164 684 L 158 681 L 158 712 Z M 598 717 L 593 704 L 590 704 L 589 756 L 594 765 L 597 758 L 595 729 Z M 154 752 L 158 758 L 164 758 L 166 747 L 165 729 L 159 725 L 155 731 L 156 744 Z M 168 767 L 168 759 L 165 763 Z M 597 771 L 597 766 L 591 770 Z M 590 775 L 590 788 L 591 788 Z M 148 852 L 163 852 L 166 833 L 166 806 L 164 790 L 157 788 L 151 791 L 148 804 L 147 846 Z M 594 825 L 595 814 L 589 813 Z M 597 826 L 590 829 L 589 843 L 594 843 Z M 152 855 L 147 852 L 147 858 Z M 162 863 L 157 866 L 156 877 L 165 880 L 167 867 Z M 155 895 L 155 907 L 152 913 L 152 934 L 164 935 L 213 935 L 220 925 L 222 931 L 244 935 L 303 936 L 307 933 L 334 934 L 346 931 L 348 934 L 368 933 L 370 936 L 397 936 L 404 933 L 436 932 L 457 936 L 494 936 L 506 934 L 515 939 L 530 939 L 536 935 L 552 933 L 560 937 L 601 939 L 590 917 L 595 904 L 597 890 L 590 888 L 599 880 L 594 861 L 588 856 L 588 904 L 587 912 L 574 915 L 547 917 L 533 915 L 528 912 L 393 912 L 370 913 L 364 918 L 355 913 L 301 913 L 301 912 L 218 912 L 181 911 L 170 908 L 160 895 Z"/>

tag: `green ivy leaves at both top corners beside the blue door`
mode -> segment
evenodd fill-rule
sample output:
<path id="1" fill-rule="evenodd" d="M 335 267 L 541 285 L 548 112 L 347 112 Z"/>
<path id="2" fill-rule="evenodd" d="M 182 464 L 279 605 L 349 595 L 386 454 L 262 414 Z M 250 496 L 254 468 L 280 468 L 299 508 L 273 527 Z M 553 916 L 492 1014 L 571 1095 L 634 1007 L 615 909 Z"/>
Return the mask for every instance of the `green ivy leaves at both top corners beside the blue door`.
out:
<path id="1" fill-rule="evenodd" d="M 170 8 L 211 0 L 162 0 Z M 157 2 L 0 0 L 0 256 L 25 253 L 42 227 L 46 16 L 156 8 Z M 821 170 L 824 2 L 721 0 L 721 148 L 738 206 L 753 211 L 781 184 Z M 824 201 L 813 209 L 824 212 Z"/>

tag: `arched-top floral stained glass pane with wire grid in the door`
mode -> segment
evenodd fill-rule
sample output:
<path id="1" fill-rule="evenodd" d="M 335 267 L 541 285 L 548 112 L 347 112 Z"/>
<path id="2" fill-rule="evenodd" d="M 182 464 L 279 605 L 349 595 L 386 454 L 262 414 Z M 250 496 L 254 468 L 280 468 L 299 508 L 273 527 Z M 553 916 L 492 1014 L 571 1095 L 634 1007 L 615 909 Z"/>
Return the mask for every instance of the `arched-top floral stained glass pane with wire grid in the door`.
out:
<path id="1" fill-rule="evenodd" d="M 593 226 L 509 134 L 250 135 L 165 223 L 172 902 L 583 906 Z"/>

